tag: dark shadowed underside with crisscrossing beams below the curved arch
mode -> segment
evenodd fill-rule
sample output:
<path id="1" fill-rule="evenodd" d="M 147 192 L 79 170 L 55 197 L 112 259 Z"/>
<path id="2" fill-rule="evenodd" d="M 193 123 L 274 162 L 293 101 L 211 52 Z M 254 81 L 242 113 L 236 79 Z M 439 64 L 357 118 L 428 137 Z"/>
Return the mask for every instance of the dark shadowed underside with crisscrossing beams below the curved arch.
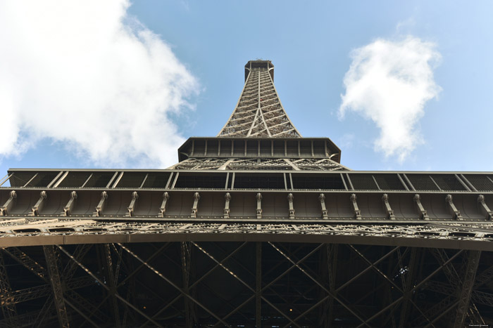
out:
<path id="1" fill-rule="evenodd" d="M 0 253 L 0 327 L 452 327 L 461 315 L 466 324 L 493 322 L 491 251 L 149 240 Z"/>

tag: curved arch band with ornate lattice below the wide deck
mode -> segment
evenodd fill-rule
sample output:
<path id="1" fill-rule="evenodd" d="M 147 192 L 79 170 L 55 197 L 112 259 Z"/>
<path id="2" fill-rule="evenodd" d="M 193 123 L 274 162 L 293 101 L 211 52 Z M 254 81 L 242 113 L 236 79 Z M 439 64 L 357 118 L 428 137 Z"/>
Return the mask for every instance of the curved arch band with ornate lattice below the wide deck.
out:
<path id="1" fill-rule="evenodd" d="M 65 224 L 66 219 L 56 219 Z M 304 220 L 292 223 L 269 222 L 263 218 L 252 223 L 235 220 L 207 218 L 189 221 L 183 219 L 168 222 L 78 222 L 68 221 L 74 231 L 15 232 L 0 237 L 0 247 L 37 244 L 92 244 L 109 242 L 182 242 L 193 238 L 196 241 L 263 241 L 263 242 L 312 242 L 339 244 L 380 244 L 407 247 L 439 247 L 451 249 L 490 250 L 493 238 L 470 225 L 457 225 L 463 231 L 454 234 L 451 228 L 429 224 L 361 224 L 332 223 L 318 224 Z M 210 222 L 212 221 L 212 222 Z M 219 221 L 219 222 L 215 222 Z M 51 224 L 51 223 L 50 223 Z M 480 224 L 476 224 L 480 225 Z M 485 227 L 493 223 L 481 224 Z M 21 229 L 23 225 L 19 225 Z M 255 234 L 251 230 L 255 230 Z M 487 230 L 487 229 L 485 229 Z M 466 233 L 466 235 L 465 235 Z"/>

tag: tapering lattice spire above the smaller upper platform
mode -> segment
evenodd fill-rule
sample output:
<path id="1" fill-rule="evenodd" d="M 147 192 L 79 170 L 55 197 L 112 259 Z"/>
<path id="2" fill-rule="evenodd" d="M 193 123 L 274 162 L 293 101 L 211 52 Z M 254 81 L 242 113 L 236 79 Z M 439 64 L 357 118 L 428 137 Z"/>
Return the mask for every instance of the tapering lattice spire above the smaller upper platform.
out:
<path id="1" fill-rule="evenodd" d="M 242 94 L 218 137 L 301 138 L 275 90 L 270 60 L 246 63 Z"/>

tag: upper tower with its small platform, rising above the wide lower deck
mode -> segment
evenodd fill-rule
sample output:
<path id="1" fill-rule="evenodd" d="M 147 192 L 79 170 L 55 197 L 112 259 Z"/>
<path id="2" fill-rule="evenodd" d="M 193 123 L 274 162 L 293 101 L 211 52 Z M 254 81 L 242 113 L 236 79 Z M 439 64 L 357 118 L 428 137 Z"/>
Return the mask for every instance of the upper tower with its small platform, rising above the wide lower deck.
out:
<path id="1" fill-rule="evenodd" d="M 270 60 L 250 60 L 230 119 L 214 138 L 189 138 L 177 170 L 347 170 L 329 138 L 302 138 L 280 102 Z"/>

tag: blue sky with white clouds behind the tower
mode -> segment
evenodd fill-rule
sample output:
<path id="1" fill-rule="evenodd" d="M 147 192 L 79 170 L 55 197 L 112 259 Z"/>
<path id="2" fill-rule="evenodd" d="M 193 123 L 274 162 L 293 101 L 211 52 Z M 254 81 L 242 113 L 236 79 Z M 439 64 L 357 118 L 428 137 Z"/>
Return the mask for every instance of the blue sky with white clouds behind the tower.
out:
<path id="1" fill-rule="evenodd" d="M 11 3 L 3 14 L 8 17 L 0 17 L 0 42 L 13 49 L 0 55 L 0 75 L 15 81 L 0 79 L 0 105 L 7 104 L 0 114 L 15 127 L 2 135 L 14 145 L 0 148 L 5 173 L 11 167 L 173 164 L 182 140 L 220 131 L 242 90 L 243 65 L 256 58 L 273 61 L 277 92 L 300 133 L 331 138 L 342 149 L 342 164 L 351 169 L 493 171 L 492 1 L 472 6 L 450 1 L 146 0 L 130 6 L 113 1 L 104 8 L 85 1 L 73 5 L 87 7 L 77 11 L 38 8 L 61 20 L 57 28 L 44 28 L 49 23 L 42 19 L 15 25 L 32 21 L 32 4 L 24 6 Z M 2 26 L 8 24 L 15 26 Z M 42 35 L 33 41 L 25 37 L 31 32 Z M 378 42 L 387 51 L 382 58 L 397 63 L 389 74 L 416 64 L 400 63 L 401 55 L 392 49 L 423 56 L 428 51 L 434 58 L 420 66 L 428 67 L 431 77 L 404 67 L 413 72 L 403 81 L 416 80 L 411 90 L 422 85 L 435 90 L 421 103 L 416 100 L 420 105 L 413 124 L 406 115 L 396 118 L 404 120 L 399 124 L 406 129 L 412 125 L 416 138 L 416 147 L 404 158 L 399 154 L 406 144 L 380 119 L 371 119 L 375 110 L 380 117 L 394 113 L 389 95 L 394 103 L 408 105 L 407 100 L 399 103 L 403 97 L 394 89 L 366 75 L 373 81 L 372 95 L 381 99 L 368 107 L 368 94 L 356 94 L 363 108 L 349 106 L 344 117 L 339 113 L 342 96 L 349 95 L 344 77 L 356 63 L 355 51 L 363 51 L 366 63 L 364 56 L 374 55 L 368 49 Z M 390 109 L 381 111 L 380 105 Z M 387 133 L 383 142 L 394 147 L 390 155 L 375 146 L 381 133 Z"/>

